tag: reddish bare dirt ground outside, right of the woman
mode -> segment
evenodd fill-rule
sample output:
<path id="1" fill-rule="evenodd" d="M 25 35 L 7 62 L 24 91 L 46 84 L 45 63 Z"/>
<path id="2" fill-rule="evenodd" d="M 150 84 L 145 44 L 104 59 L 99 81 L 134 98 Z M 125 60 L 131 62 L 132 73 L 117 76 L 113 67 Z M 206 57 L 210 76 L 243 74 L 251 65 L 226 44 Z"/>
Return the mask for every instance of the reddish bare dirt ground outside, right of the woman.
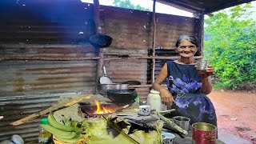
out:
<path id="1" fill-rule="evenodd" d="M 224 130 L 256 144 L 256 94 L 246 91 L 213 90 L 209 97 Z"/>

